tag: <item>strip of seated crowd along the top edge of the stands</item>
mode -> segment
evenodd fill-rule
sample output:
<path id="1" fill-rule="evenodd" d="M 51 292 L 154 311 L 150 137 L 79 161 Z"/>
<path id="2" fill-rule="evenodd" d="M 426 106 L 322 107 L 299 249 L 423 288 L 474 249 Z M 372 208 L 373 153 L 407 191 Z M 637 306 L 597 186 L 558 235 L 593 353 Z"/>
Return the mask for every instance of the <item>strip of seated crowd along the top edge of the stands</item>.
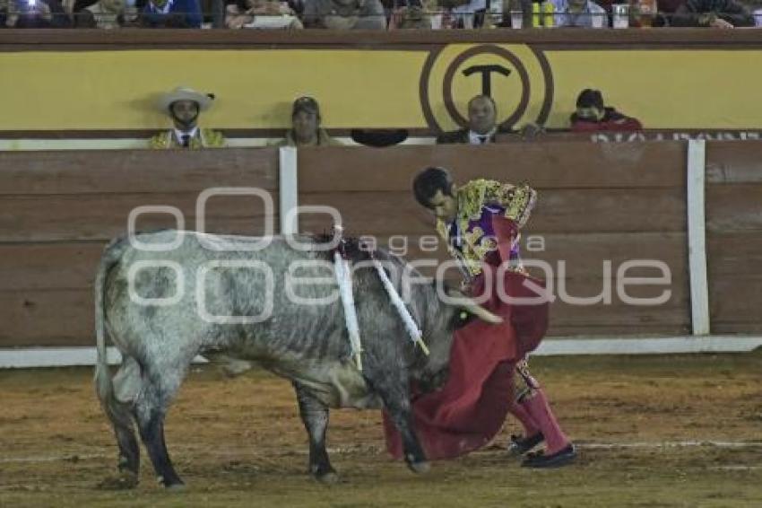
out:
<path id="1" fill-rule="evenodd" d="M 398 30 L 762 25 L 762 0 L 0 0 L 4 28 Z"/>

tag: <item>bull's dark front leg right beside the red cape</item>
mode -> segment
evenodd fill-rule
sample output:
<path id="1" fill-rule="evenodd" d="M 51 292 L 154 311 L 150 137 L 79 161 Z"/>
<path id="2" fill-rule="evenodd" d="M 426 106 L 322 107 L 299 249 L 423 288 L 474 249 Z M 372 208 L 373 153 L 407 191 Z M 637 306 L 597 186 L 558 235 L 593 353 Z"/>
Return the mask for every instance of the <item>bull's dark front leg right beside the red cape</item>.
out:
<path id="1" fill-rule="evenodd" d="M 382 381 L 373 383 L 373 388 L 384 401 L 386 412 L 402 437 L 405 462 L 413 472 L 429 472 L 429 461 L 415 434 L 407 381 L 389 373 L 379 379 Z"/>

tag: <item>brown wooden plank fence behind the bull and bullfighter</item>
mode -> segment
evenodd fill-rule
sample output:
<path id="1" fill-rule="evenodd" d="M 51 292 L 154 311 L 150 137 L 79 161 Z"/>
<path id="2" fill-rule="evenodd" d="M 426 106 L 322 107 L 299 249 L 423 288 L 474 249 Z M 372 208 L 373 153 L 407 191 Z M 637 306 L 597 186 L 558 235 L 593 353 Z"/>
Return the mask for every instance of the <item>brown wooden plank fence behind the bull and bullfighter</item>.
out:
<path id="1" fill-rule="evenodd" d="M 762 143 L 707 143 L 706 234 L 712 331 L 762 330 Z M 273 195 L 264 216 L 254 197 L 212 197 L 209 232 L 258 234 L 279 227 L 279 155 L 275 148 L 201 152 L 114 151 L 0 153 L 0 347 L 91 346 L 92 291 L 100 252 L 126 231 L 136 206 L 176 206 L 195 229 L 206 188 L 255 187 Z M 411 179 L 428 165 L 477 177 L 526 180 L 540 199 L 524 230 L 524 258 L 545 262 L 559 299 L 550 335 L 685 335 L 690 332 L 686 206 L 687 143 L 537 142 L 489 146 L 329 147 L 299 150 L 299 205 L 335 207 L 348 234 L 376 236 L 407 258 L 445 259 L 420 248 L 432 218 L 411 197 Z M 291 189 L 292 190 L 292 189 Z M 168 214 L 143 214 L 140 229 L 173 227 Z M 302 215 L 301 231 L 321 232 L 326 215 Z M 622 276 L 669 285 L 628 285 L 626 293 L 660 305 L 623 302 Z M 605 272 L 610 263 L 611 273 Z M 566 272 L 562 273 L 561 270 Z M 542 275 L 538 267 L 534 273 Z M 573 305 L 602 293 L 610 302 Z"/>

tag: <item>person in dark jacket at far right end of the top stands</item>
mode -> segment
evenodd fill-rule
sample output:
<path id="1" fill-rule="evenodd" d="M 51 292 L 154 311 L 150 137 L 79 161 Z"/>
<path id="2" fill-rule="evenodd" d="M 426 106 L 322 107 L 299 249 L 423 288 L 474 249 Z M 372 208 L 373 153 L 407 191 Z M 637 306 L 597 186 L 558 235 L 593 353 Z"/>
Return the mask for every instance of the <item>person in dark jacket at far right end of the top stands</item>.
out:
<path id="1" fill-rule="evenodd" d="M 672 14 L 671 25 L 710 28 L 754 26 L 754 16 L 735 0 L 688 0 Z"/>

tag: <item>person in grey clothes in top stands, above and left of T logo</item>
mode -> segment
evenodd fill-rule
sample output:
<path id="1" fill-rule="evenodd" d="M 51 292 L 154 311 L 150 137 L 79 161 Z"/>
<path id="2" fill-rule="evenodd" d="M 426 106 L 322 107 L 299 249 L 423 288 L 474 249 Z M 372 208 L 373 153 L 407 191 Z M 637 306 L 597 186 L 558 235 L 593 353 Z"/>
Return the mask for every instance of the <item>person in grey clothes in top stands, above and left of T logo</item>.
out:
<path id="1" fill-rule="evenodd" d="M 302 21 L 307 28 L 386 30 L 379 0 L 305 0 Z"/>

